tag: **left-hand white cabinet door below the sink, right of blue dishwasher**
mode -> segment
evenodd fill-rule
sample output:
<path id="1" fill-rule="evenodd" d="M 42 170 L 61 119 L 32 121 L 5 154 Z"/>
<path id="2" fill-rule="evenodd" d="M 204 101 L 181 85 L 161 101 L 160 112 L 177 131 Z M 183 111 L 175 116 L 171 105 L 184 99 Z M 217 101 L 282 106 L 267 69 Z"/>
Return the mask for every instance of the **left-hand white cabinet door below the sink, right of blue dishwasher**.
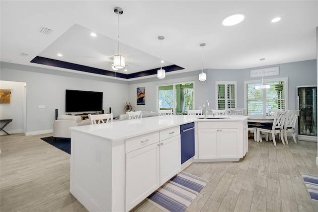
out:
<path id="1" fill-rule="evenodd" d="M 217 158 L 217 130 L 198 130 L 198 152 L 199 159 Z"/>

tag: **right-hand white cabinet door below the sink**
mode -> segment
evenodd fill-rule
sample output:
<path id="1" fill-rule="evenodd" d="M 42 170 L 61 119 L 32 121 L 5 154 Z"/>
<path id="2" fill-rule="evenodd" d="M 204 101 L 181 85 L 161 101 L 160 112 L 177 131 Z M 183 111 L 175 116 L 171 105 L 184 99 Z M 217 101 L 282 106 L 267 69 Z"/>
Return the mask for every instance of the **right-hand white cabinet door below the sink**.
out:
<path id="1" fill-rule="evenodd" d="M 217 130 L 217 146 L 220 158 L 239 157 L 239 129 Z M 240 140 L 241 141 L 241 140 Z"/>

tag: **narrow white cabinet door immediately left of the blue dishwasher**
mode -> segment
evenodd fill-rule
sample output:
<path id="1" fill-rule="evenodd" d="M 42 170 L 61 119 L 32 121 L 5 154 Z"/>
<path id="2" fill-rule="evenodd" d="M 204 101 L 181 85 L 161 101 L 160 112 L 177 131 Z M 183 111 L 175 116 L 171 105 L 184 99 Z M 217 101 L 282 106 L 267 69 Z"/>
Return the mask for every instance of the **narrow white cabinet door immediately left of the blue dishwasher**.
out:
<path id="1" fill-rule="evenodd" d="M 160 186 L 180 170 L 180 135 L 160 141 Z"/>

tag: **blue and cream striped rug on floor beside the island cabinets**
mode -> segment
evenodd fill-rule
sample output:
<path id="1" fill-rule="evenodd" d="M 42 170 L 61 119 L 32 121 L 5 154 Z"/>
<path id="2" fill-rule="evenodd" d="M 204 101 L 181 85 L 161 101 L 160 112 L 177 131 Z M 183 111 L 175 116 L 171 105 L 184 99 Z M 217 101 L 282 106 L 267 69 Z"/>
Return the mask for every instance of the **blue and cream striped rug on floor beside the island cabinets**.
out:
<path id="1" fill-rule="evenodd" d="M 147 201 L 163 211 L 184 212 L 207 183 L 200 177 L 180 172 L 151 194 Z"/>

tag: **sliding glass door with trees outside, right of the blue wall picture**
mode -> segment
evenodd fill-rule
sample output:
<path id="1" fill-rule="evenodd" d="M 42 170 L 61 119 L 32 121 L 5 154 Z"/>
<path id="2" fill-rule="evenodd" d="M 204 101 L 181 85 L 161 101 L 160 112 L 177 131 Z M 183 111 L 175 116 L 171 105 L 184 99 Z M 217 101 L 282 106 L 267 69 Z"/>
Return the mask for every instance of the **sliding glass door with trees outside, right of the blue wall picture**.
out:
<path id="1" fill-rule="evenodd" d="M 178 83 L 158 86 L 158 108 L 172 109 L 176 115 L 186 114 L 194 109 L 193 83 Z"/>

